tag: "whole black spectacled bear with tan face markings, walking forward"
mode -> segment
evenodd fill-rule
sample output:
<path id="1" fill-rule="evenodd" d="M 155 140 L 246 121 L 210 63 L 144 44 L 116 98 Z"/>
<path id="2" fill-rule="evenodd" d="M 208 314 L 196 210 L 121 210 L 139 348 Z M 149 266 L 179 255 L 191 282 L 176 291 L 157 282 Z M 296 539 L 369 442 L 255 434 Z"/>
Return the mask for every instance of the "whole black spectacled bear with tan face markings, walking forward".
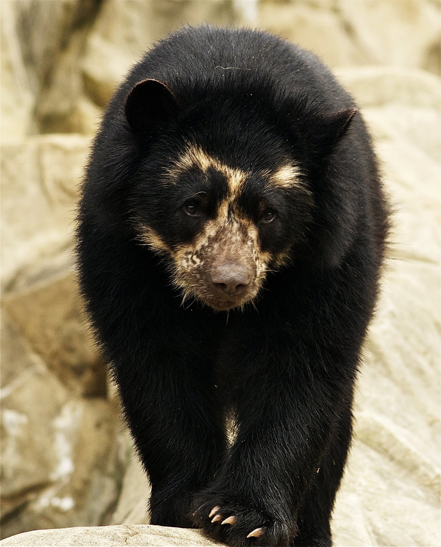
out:
<path id="1" fill-rule="evenodd" d="M 187 27 L 132 68 L 92 147 L 77 252 L 153 524 L 332 544 L 386 232 L 368 131 L 315 55 Z"/>

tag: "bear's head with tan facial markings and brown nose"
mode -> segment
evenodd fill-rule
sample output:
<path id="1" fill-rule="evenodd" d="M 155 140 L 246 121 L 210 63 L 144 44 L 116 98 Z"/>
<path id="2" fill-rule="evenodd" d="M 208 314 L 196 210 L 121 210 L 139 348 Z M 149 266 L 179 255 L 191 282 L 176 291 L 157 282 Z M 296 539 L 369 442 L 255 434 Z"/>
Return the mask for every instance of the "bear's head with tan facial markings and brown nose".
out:
<path id="1" fill-rule="evenodd" d="M 353 114 L 340 115 L 337 129 Z M 131 197 L 137 240 L 164 258 L 183 300 L 214 310 L 256 300 L 314 217 L 293 142 L 261 102 L 244 108 L 243 97 L 223 94 L 184 108 L 152 79 L 130 91 L 125 116 L 140 151 Z"/>

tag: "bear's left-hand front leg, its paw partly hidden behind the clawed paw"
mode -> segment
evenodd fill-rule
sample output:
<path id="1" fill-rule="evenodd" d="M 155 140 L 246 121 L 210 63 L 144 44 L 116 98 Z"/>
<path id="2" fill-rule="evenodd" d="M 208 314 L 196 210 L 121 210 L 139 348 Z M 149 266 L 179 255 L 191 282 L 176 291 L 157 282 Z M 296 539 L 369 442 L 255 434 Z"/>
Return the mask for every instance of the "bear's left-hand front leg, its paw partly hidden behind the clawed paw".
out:
<path id="1" fill-rule="evenodd" d="M 161 326 L 140 336 L 130 367 L 126 352 L 115 353 L 112 365 L 152 485 L 150 522 L 191 527 L 192 498 L 213 480 L 227 449 L 223 409 L 208 359 L 184 344 L 185 331 L 176 327 L 165 339 Z"/>

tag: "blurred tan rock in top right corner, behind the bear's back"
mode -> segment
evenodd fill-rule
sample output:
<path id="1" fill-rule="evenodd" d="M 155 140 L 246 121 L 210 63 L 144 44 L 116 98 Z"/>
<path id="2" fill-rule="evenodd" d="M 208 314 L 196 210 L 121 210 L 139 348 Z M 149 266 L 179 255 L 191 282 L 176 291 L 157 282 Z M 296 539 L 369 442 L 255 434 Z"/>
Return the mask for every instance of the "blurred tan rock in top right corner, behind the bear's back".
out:
<path id="1" fill-rule="evenodd" d="M 266 0 L 251 22 L 314 51 L 332 67 L 391 65 L 439 74 L 439 19 L 433 2 Z"/>

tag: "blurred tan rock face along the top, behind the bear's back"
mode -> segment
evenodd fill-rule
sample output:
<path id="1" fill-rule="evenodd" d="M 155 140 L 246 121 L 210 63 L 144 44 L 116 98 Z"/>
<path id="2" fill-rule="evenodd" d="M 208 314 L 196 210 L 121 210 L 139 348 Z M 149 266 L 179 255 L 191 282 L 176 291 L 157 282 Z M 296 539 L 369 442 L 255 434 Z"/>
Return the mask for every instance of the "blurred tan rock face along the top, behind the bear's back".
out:
<path id="1" fill-rule="evenodd" d="M 332 67 L 441 70 L 431 0 L 6 0 L 2 136 L 96 129 L 97 107 L 154 42 L 182 23 L 257 25 Z"/>

